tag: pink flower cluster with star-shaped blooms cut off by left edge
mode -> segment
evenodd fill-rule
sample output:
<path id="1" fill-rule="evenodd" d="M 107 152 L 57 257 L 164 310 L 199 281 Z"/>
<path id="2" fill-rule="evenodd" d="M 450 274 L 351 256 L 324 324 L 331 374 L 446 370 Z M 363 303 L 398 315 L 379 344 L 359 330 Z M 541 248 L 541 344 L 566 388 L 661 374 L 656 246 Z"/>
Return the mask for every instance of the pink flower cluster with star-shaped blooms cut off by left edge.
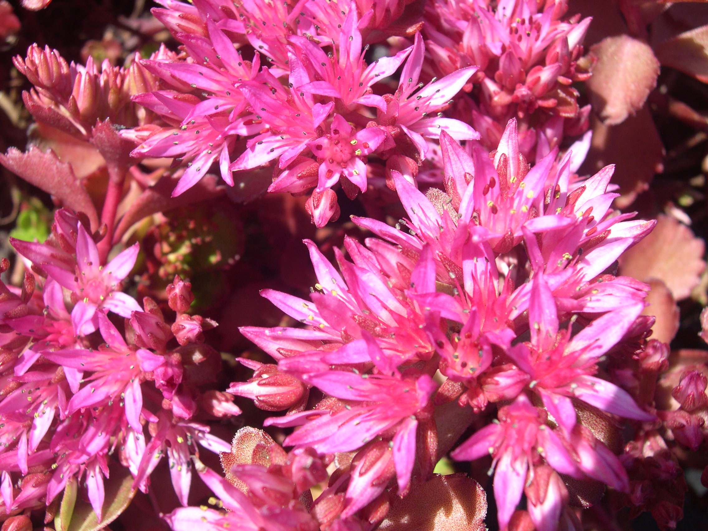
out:
<path id="1" fill-rule="evenodd" d="M 49 506 L 81 481 L 101 522 L 115 451 L 144 491 L 167 455 L 186 505 L 197 443 L 228 448 L 195 416 L 240 413 L 230 395 L 199 392 L 219 355 L 203 344 L 215 323 L 185 313 L 190 284 L 176 277 L 168 287 L 170 326 L 152 299 L 141 307 L 122 291 L 138 245 L 102 263 L 100 236 L 86 227 L 58 210 L 47 242 L 13 241 L 33 270 L 22 290 L 0 284 L 0 507 L 9 515 Z"/>

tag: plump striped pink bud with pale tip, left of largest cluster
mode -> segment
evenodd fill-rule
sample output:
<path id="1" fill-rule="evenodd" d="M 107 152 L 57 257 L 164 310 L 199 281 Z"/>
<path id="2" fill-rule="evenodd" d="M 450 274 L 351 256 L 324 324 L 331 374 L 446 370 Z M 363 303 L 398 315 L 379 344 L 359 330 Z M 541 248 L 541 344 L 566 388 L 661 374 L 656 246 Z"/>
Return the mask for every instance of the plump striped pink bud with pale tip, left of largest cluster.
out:
<path id="1" fill-rule="evenodd" d="M 229 393 L 246 396 L 265 411 L 282 411 L 302 401 L 307 387 L 294 376 L 285 375 L 278 365 L 261 365 L 248 382 L 234 382 Z"/>

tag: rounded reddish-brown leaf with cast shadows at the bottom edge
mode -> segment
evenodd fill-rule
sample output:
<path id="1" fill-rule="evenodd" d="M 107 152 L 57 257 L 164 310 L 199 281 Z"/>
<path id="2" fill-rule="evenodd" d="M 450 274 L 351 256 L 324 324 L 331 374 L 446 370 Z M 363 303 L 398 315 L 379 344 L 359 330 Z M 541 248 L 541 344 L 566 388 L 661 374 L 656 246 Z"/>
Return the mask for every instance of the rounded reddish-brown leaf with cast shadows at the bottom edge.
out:
<path id="1" fill-rule="evenodd" d="M 464 474 L 411 481 L 405 498 L 391 504 L 381 531 L 484 531 L 486 496 L 481 485 Z"/>

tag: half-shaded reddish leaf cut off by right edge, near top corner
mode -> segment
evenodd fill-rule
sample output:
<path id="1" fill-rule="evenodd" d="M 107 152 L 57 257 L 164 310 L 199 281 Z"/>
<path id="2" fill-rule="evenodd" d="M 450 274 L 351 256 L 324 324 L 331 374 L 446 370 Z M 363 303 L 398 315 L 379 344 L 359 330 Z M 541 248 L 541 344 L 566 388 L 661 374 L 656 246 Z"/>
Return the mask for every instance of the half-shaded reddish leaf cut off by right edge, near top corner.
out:
<path id="1" fill-rule="evenodd" d="M 663 42 L 656 49 L 656 57 L 664 66 L 708 83 L 708 25 Z"/>

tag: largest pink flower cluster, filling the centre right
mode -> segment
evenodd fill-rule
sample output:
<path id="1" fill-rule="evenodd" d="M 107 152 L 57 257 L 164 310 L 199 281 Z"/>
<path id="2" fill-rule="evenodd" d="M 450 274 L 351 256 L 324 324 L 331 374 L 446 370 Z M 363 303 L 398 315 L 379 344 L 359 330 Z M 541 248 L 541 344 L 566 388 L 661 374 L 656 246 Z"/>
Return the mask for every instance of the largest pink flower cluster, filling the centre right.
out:
<path id="1" fill-rule="evenodd" d="M 388 449 L 391 465 L 350 480 L 344 518 L 387 486 L 406 493 L 414 470 L 430 474 L 454 442 L 436 406 L 455 400 L 490 415 L 497 404 L 495 423 L 452 457 L 491 455 L 501 528 L 525 492 L 536 527 L 554 530 L 561 517 L 575 518 L 564 481 L 629 488 L 578 411 L 605 423 L 654 418 L 598 377 L 603 358 L 643 322 L 647 290 L 607 268 L 653 222 L 610 209 L 610 167 L 574 189 L 570 155 L 555 164 L 554 149 L 529 167 L 515 120 L 492 155 L 476 144 L 469 156 L 445 134 L 441 143 L 445 191 L 423 195 L 394 172 L 408 232 L 355 218 L 382 239 L 346 239 L 351 261 L 335 250 L 341 274 L 306 241 L 319 280 L 311 300 L 263 296 L 307 326 L 242 329 L 278 365 L 253 367 L 253 382 L 229 390 L 263 409 L 290 408 L 266 421 L 301 426 L 286 446 L 361 459 Z M 302 411 L 307 388 L 325 398 Z"/>

